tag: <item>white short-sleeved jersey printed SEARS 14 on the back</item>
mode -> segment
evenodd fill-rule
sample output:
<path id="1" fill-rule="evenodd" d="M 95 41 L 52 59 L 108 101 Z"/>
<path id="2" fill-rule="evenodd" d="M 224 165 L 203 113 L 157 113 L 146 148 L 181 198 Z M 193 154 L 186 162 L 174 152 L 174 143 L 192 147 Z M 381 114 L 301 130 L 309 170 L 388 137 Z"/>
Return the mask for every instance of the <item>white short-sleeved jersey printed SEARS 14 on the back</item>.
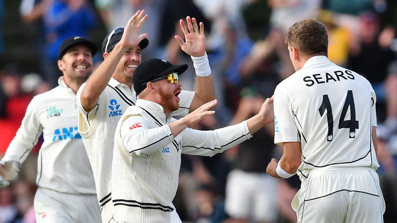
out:
<path id="1" fill-rule="evenodd" d="M 301 142 L 300 177 L 309 169 L 374 167 L 376 96 L 361 75 L 314 56 L 274 92 L 274 142 Z"/>

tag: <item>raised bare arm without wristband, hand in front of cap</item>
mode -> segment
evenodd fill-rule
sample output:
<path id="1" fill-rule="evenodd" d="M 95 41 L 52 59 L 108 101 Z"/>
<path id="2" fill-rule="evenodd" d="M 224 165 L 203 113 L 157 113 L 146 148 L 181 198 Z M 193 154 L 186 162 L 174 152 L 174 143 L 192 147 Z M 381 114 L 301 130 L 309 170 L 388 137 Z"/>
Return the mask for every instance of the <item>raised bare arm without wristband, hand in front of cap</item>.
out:
<path id="1" fill-rule="evenodd" d="M 144 16 L 144 14 L 145 10 L 138 10 L 129 19 L 120 42 L 116 44 L 112 53 L 105 53 L 106 60 L 99 65 L 87 80 L 87 84 L 81 92 L 81 105 L 86 112 L 94 108 L 98 102 L 100 94 L 106 88 L 123 54 L 130 48 L 137 46 L 141 40 L 148 36 L 146 33 L 138 36 L 139 29 L 147 19 L 147 15 Z"/>

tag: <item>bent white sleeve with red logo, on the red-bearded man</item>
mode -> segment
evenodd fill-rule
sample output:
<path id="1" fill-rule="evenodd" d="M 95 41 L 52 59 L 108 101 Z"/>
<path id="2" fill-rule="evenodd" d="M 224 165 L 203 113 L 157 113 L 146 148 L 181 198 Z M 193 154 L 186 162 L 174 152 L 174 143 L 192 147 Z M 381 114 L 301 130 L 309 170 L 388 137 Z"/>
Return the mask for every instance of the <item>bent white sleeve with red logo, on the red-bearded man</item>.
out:
<path id="1" fill-rule="evenodd" d="M 149 122 L 140 115 L 127 118 L 121 125 L 121 140 L 129 153 L 146 156 L 161 150 L 173 140 L 168 125 L 150 129 Z"/>

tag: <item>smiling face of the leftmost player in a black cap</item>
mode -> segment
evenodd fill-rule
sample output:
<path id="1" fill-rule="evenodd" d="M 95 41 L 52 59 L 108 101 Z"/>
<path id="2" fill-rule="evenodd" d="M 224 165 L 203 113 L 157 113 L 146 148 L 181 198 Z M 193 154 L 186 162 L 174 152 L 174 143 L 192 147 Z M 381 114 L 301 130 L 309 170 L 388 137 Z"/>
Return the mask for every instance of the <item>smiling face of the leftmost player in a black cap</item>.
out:
<path id="1" fill-rule="evenodd" d="M 61 60 L 58 60 L 58 68 L 69 79 L 87 80 L 93 72 L 91 50 L 82 45 L 71 47 Z"/>

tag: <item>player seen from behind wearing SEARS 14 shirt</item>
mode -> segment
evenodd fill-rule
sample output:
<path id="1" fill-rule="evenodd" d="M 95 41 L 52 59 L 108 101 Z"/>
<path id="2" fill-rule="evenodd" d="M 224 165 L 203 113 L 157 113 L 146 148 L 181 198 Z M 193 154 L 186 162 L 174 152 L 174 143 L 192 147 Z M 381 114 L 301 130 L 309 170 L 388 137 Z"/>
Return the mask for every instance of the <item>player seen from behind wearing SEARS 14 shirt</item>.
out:
<path id="1" fill-rule="evenodd" d="M 298 223 L 382 223 L 374 90 L 328 60 L 323 23 L 303 19 L 285 37 L 296 72 L 274 92 L 274 142 L 284 152 L 266 172 L 299 175 L 301 189 L 292 201 Z"/>

